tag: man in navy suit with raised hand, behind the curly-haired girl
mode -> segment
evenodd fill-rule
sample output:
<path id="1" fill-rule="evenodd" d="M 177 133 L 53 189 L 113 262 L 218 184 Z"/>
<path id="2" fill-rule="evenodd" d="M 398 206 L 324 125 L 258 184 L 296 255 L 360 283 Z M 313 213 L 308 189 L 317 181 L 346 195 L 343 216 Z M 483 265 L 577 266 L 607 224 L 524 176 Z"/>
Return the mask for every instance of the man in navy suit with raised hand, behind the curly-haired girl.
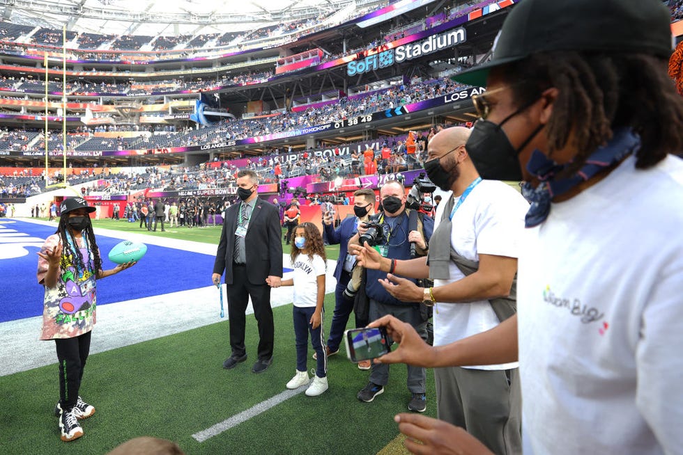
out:
<path id="1" fill-rule="evenodd" d="M 328 356 L 339 352 L 339 344 L 344 336 L 344 329 L 348 322 L 348 317 L 353 311 L 353 296 L 344 292 L 355 267 L 355 256 L 349 255 L 348 241 L 358 232 L 358 225 L 368 220 L 375 214 L 375 192 L 371 189 L 360 189 L 353 193 L 353 214 L 342 220 L 339 227 L 335 229 L 334 216 L 330 211 L 323 214 L 323 235 L 330 245 L 339 245 L 339 259 L 335 268 L 335 278 L 337 287 L 335 288 L 335 314 L 332 317 L 330 327 L 330 337 L 328 338 Z M 355 314 L 355 326 L 364 327 L 367 320 L 361 319 L 358 313 Z M 358 363 L 360 369 L 370 369 L 370 361 L 363 360 Z"/>

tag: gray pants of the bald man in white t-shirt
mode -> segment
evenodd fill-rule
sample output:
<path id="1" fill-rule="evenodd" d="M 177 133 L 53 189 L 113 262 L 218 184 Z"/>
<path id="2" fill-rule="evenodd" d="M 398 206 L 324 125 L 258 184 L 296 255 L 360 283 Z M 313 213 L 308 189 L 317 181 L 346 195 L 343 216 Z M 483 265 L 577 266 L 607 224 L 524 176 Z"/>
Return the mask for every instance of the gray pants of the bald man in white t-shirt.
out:
<path id="1" fill-rule="evenodd" d="M 436 415 L 461 426 L 494 454 L 521 454 L 517 369 L 435 368 Z"/>

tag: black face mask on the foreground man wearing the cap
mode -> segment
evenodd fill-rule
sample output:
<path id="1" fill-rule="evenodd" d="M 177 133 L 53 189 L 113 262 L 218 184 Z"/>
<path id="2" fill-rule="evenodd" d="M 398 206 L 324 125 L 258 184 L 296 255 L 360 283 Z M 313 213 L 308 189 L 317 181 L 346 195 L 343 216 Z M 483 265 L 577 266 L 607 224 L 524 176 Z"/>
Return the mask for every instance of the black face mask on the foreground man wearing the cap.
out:
<path id="1" fill-rule="evenodd" d="M 514 111 L 498 125 L 482 119 L 475 123 L 465 148 L 482 179 L 519 181 L 523 178 L 519 163 L 519 152 L 530 143 L 545 125 L 539 125 L 517 150 L 512 147 L 507 134 L 502 130 L 502 125 L 527 109 L 531 104 Z M 426 170 L 427 163 L 424 164 Z"/>

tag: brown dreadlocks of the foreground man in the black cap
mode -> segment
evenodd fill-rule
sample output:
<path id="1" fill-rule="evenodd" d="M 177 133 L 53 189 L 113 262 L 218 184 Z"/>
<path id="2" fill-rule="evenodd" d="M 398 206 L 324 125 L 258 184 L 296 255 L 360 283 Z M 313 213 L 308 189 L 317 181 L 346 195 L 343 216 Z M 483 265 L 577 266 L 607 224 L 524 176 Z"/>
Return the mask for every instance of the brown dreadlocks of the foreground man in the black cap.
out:
<path id="1" fill-rule="evenodd" d="M 562 173 L 576 173 L 617 127 L 640 135 L 636 168 L 650 168 L 683 152 L 683 98 L 667 77 L 666 61 L 645 54 L 539 53 L 506 65 L 518 106 L 549 87 L 559 90 L 546 125 L 549 157 L 567 145 L 578 153 Z M 568 143 L 573 135 L 574 143 Z"/>

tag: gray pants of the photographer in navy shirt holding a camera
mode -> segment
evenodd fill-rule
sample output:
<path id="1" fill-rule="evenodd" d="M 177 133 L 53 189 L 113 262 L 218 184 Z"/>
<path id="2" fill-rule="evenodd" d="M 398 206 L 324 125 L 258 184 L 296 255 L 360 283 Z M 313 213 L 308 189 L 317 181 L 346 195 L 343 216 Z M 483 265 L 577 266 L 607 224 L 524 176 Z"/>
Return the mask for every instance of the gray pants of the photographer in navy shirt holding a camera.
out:
<path id="1" fill-rule="evenodd" d="M 417 305 L 386 305 L 373 299 L 370 299 L 369 317 L 370 321 L 374 321 L 385 314 L 407 322 L 417 330 L 422 340 L 427 340 L 427 323 L 422 321 L 420 316 L 420 308 Z M 408 390 L 413 393 L 424 393 L 425 380 L 427 379 L 427 370 L 421 367 L 408 367 Z M 370 382 L 379 385 L 387 385 L 389 382 L 389 365 L 384 363 L 372 363 L 372 370 L 370 372 Z"/>

